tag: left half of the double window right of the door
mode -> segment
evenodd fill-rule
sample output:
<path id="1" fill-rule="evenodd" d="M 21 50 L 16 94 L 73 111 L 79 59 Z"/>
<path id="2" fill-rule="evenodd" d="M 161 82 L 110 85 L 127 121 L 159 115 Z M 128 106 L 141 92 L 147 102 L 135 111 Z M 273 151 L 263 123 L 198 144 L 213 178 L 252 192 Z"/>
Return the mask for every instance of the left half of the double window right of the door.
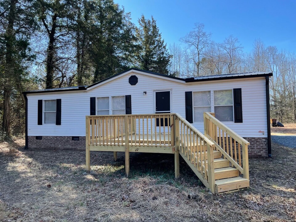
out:
<path id="1" fill-rule="evenodd" d="M 211 112 L 211 91 L 193 92 L 194 121 L 204 121 L 204 112 Z"/>

